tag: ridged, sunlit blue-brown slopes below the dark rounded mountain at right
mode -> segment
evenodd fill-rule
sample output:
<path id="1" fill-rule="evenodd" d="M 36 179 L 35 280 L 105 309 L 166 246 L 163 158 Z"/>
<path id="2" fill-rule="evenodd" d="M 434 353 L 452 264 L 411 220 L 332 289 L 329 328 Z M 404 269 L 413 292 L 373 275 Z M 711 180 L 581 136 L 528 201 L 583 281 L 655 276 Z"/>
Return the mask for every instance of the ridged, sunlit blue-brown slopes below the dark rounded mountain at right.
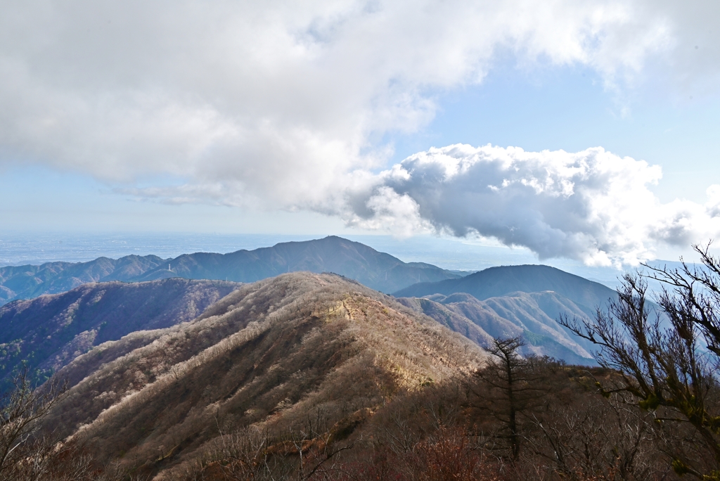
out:
<path id="1" fill-rule="evenodd" d="M 427 298 L 400 297 L 398 302 L 482 347 L 489 347 L 492 338 L 521 336 L 526 342 L 525 355 L 551 356 L 570 364 L 596 364 L 585 343 L 556 321 L 561 314 L 586 318 L 587 313 L 557 292 L 515 292 L 482 301 L 466 293 L 436 294 Z"/>

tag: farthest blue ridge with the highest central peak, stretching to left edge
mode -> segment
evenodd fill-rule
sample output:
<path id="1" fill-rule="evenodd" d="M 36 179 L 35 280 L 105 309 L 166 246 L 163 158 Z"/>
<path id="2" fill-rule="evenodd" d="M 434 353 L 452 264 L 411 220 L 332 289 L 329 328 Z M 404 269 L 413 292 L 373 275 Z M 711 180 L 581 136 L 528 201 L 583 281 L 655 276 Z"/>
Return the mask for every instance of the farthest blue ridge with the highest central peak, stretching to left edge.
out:
<path id="1" fill-rule="evenodd" d="M 53 262 L 0 269 L 0 305 L 14 299 L 64 292 L 86 282 L 140 282 L 171 277 L 256 282 L 293 271 L 333 272 L 372 289 L 393 292 L 416 282 L 458 279 L 460 274 L 421 262 L 405 263 L 390 254 L 336 236 L 233 253 L 101 257 L 90 262 Z"/>

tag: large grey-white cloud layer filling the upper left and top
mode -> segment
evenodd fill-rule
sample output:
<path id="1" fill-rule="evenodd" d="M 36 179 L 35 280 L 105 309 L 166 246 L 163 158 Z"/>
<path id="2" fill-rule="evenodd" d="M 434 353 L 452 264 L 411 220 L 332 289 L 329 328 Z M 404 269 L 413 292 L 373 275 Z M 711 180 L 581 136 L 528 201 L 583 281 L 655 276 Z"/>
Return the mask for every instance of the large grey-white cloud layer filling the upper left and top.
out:
<path id="1" fill-rule="evenodd" d="M 0 143 L 13 155 L 0 161 L 112 181 L 229 175 L 283 199 L 278 171 L 328 182 L 328 166 L 379 165 L 369 135 L 424 125 L 436 109 L 424 93 L 482 80 L 498 48 L 611 75 L 667 43 L 665 20 L 634 19 L 620 1 L 31 0 L 2 11 Z"/>

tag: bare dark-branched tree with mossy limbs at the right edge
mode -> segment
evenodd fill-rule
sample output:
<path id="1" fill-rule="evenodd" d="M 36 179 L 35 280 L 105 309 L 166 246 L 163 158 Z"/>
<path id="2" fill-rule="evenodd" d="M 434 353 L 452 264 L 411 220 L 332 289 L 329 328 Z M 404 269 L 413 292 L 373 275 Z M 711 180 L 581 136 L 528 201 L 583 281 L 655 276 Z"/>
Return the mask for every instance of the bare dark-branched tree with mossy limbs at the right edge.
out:
<path id="1" fill-rule="evenodd" d="M 618 375 L 601 385 L 603 395 L 631 395 L 634 403 L 655 413 L 658 429 L 689 424 L 704 454 L 689 456 L 680 444 L 670 449 L 679 475 L 720 480 L 719 384 L 720 262 L 707 248 L 695 246 L 706 269 L 651 269 L 664 282 L 660 310 L 647 301 L 647 281 L 625 274 L 618 298 L 594 320 L 560 323 L 598 346 L 597 359 Z"/>

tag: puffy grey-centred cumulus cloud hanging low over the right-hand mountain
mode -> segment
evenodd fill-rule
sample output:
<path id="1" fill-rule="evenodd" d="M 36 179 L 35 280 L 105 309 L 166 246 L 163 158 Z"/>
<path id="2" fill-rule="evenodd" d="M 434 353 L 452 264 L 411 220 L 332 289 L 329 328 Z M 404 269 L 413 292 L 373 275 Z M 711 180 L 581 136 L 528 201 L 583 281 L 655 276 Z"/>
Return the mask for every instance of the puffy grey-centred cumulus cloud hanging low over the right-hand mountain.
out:
<path id="1" fill-rule="evenodd" d="M 661 244 L 688 246 L 720 233 L 720 186 L 705 205 L 662 204 L 649 190 L 660 167 L 603 148 L 577 153 L 449 145 L 406 158 L 356 193 L 351 222 L 480 234 L 541 259 L 637 264 Z M 354 199 L 351 204 L 363 204 Z M 396 206 L 397 204 L 397 206 Z M 391 219 L 388 219 L 391 217 Z"/>

